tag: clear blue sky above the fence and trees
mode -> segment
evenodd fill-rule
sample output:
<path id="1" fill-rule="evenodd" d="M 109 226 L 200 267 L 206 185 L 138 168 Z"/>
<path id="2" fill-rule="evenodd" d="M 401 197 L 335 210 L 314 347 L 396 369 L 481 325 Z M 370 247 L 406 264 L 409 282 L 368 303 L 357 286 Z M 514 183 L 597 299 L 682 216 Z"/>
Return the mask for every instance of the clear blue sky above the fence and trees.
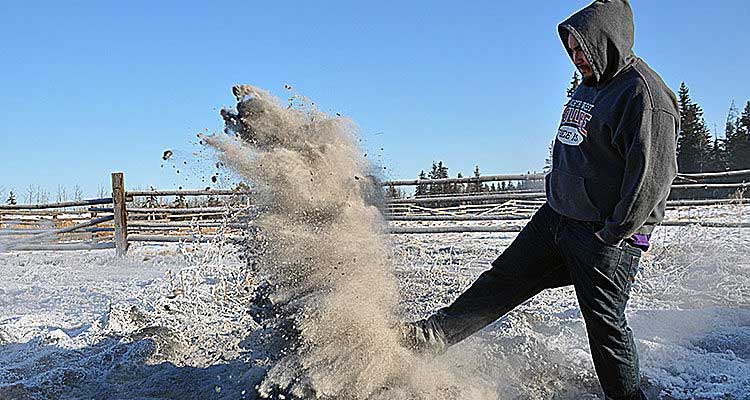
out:
<path id="1" fill-rule="evenodd" d="M 433 160 L 539 170 L 573 72 L 556 25 L 586 4 L 1 0 L 0 187 L 92 196 L 116 170 L 130 188 L 200 187 L 213 171 L 191 142 L 221 129 L 237 83 L 289 84 L 353 118 L 388 178 Z M 750 99 L 750 5 L 633 8 L 636 53 L 723 129 L 729 102 Z"/>

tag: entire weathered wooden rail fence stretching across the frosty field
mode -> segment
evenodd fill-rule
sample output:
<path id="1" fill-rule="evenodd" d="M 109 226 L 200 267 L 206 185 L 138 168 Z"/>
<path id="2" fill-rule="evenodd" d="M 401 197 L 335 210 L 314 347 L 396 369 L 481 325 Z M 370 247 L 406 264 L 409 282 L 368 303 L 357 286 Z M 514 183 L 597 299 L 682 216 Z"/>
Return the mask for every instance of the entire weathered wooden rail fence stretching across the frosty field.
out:
<path id="1" fill-rule="evenodd" d="M 669 208 L 716 204 L 744 204 L 743 191 L 750 186 L 744 180 L 750 170 L 704 174 L 680 174 L 673 192 L 713 189 L 735 190 L 730 198 L 676 199 Z M 439 180 L 398 180 L 384 187 L 479 184 L 485 182 L 539 181 L 543 174 L 487 175 Z M 721 182 L 715 182 L 722 180 Z M 708 193 L 708 192 L 707 192 Z M 127 191 L 122 173 L 112 174 L 112 197 L 49 204 L 0 205 L 0 252 L 19 250 L 92 250 L 115 249 L 127 253 L 133 242 L 206 242 L 239 241 L 252 232 L 252 220 L 258 209 L 252 193 L 237 190 L 148 190 Z M 151 201 L 138 206 L 138 199 L 209 196 L 217 200 L 209 207 L 170 207 Z M 538 189 L 508 190 L 493 193 L 463 193 L 412 196 L 387 199 L 385 217 L 392 222 L 392 233 L 516 232 L 544 203 Z M 402 222 L 450 222 L 443 226 L 404 226 Z M 496 221 L 499 224 L 461 225 L 458 222 Z M 747 223 L 706 222 L 697 220 L 664 221 L 665 226 L 700 224 L 711 227 L 750 227 Z M 438 224 L 440 225 L 440 224 Z"/>

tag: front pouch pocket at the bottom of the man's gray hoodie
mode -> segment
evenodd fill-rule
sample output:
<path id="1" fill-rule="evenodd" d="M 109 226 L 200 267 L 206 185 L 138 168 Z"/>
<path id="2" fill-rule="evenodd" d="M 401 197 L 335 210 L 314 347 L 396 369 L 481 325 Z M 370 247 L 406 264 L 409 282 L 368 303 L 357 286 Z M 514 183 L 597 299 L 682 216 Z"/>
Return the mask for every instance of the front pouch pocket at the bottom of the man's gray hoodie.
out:
<path id="1" fill-rule="evenodd" d="M 579 221 L 601 221 L 599 209 L 586 193 L 582 176 L 553 169 L 545 177 L 547 200 L 553 209 Z"/>

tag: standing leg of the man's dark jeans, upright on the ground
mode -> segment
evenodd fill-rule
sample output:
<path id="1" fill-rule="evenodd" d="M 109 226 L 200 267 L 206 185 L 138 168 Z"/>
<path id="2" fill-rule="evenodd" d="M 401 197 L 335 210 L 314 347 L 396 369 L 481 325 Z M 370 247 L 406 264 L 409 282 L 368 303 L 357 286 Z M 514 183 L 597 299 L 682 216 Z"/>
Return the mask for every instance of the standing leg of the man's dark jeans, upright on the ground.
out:
<path id="1" fill-rule="evenodd" d="M 605 395 L 608 399 L 643 399 L 638 353 L 625 318 L 640 250 L 628 244 L 604 244 L 594 236 L 595 230 L 590 224 L 566 220 L 558 245 L 586 322 Z"/>

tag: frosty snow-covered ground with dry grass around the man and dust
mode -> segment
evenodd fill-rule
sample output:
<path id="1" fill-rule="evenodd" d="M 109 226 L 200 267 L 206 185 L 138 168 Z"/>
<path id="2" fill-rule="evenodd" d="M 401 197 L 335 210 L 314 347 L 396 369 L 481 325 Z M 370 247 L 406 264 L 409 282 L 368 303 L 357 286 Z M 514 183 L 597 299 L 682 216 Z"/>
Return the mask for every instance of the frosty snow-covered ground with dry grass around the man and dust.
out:
<path id="1" fill-rule="evenodd" d="M 669 217 L 749 221 L 750 208 Z M 514 236 L 392 236 L 404 318 L 448 304 Z M 0 254 L 0 399 L 256 398 L 287 340 L 261 288 L 252 256 L 217 244 Z M 653 397 L 750 399 L 750 229 L 659 228 L 629 319 Z M 499 399 L 600 396 L 570 288 L 440 357 Z"/>

